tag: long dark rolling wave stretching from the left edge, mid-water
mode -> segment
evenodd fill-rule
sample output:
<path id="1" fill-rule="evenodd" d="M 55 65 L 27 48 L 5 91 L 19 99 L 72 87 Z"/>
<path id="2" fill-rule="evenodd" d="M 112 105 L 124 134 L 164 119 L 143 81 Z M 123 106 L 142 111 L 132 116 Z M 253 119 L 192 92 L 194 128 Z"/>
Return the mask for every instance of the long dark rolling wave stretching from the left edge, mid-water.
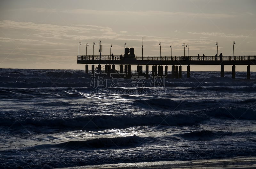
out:
<path id="1" fill-rule="evenodd" d="M 113 128 L 127 128 L 131 126 L 148 125 L 195 125 L 200 121 L 209 119 L 202 113 L 172 113 L 148 115 L 91 115 L 74 118 L 35 118 L 35 117 L 0 117 L 1 126 L 35 126 L 35 132 L 42 132 L 41 128 L 51 127 L 57 129 L 101 130 Z"/>

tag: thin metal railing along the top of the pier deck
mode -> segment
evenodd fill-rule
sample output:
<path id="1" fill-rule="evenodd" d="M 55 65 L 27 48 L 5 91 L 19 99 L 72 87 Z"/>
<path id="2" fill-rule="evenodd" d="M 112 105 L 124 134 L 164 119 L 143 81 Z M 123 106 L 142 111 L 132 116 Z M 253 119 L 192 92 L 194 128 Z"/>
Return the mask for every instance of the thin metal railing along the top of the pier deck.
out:
<path id="1" fill-rule="evenodd" d="M 220 61 L 220 56 L 135 56 L 136 60 L 145 60 L 145 61 Z M 77 60 L 120 60 L 119 55 L 114 57 L 110 55 L 77 55 Z M 247 56 L 222 56 L 223 61 L 249 61 L 256 60 L 256 56 L 247 55 Z"/>

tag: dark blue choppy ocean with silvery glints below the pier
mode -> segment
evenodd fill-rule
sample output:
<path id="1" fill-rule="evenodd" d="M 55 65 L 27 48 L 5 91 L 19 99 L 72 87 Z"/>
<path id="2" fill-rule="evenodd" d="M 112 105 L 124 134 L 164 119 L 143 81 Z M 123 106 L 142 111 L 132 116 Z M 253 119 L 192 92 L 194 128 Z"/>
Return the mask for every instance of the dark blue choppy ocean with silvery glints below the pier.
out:
<path id="1" fill-rule="evenodd" d="M 256 156 L 256 72 L 132 74 L 0 69 L 0 167 Z"/>

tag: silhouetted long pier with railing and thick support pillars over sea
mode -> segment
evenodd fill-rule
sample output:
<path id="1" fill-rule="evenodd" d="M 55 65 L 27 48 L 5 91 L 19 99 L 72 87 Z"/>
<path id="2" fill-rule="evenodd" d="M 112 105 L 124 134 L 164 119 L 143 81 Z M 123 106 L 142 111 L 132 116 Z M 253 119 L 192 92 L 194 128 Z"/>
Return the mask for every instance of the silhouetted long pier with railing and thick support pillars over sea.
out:
<path id="1" fill-rule="evenodd" d="M 181 78 L 181 65 L 187 65 L 187 78 L 190 77 L 190 65 L 220 65 L 220 77 L 224 77 L 225 65 L 232 66 L 232 78 L 236 78 L 236 65 L 247 65 L 247 79 L 250 79 L 250 65 L 256 64 L 256 56 L 135 56 L 134 58 L 121 58 L 119 55 L 77 55 L 77 63 L 85 64 L 85 72 L 89 72 L 88 64 L 92 64 L 92 73 L 95 65 L 101 71 L 101 65 L 105 65 L 105 73 L 115 65 L 120 65 L 120 73 L 131 77 L 131 65 L 137 65 L 138 73 L 145 73 L 148 78 L 148 68 L 152 66 L 152 74 L 167 75 L 168 66 L 172 67 L 172 78 Z M 143 69 L 145 66 L 145 69 Z M 112 67 L 112 68 L 111 68 Z M 100 69 L 100 70 L 99 70 Z"/>

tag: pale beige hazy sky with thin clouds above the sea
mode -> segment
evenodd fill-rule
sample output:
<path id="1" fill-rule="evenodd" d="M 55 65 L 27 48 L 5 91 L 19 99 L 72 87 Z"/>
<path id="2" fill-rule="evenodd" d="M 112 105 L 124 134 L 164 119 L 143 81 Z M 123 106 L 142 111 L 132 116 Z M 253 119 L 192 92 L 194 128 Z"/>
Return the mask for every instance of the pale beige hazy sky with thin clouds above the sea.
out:
<path id="1" fill-rule="evenodd" d="M 0 68 L 85 69 L 80 55 L 256 55 L 255 0 L 1 0 Z M 95 45 L 93 45 L 95 42 Z M 94 48 L 94 51 L 93 51 Z M 188 48 L 185 48 L 188 55 Z M 168 68 L 171 69 L 171 68 Z M 184 69 L 183 69 L 184 70 Z M 220 71 L 220 66 L 191 70 Z M 231 66 L 225 66 L 231 71 Z M 246 65 L 236 66 L 246 71 Z M 256 65 L 251 65 L 256 71 Z"/>

